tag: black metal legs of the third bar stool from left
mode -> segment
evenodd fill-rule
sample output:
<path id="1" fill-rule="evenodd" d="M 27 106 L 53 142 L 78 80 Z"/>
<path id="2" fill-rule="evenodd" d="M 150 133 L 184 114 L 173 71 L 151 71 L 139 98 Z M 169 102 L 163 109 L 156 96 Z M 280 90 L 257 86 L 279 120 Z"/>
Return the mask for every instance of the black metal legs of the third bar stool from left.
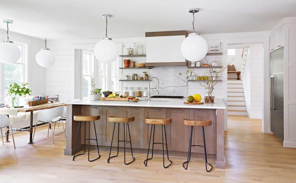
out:
<path id="1" fill-rule="evenodd" d="M 148 158 L 149 150 L 150 150 L 150 141 L 151 141 L 152 128 L 153 128 L 152 156 L 151 156 L 151 158 Z M 163 142 L 163 128 L 164 128 L 164 135 L 165 135 L 166 143 Z M 170 163 L 169 165 L 167 165 L 167 166 L 164 165 L 164 145 L 166 145 L 166 149 L 167 149 L 167 132 L 166 132 L 166 125 L 161 125 L 162 143 L 161 143 L 161 142 L 154 142 L 154 132 L 155 132 L 155 124 L 151 124 L 151 131 L 150 131 L 150 138 L 149 138 L 148 152 L 147 152 L 147 158 L 146 158 L 146 160 L 144 160 L 144 166 L 147 166 L 148 160 L 152 160 L 152 158 L 153 158 L 154 144 L 162 144 L 162 160 L 163 160 L 163 167 L 164 167 L 164 168 L 168 168 L 169 166 L 171 166 L 172 161 L 169 159 L 169 152 L 168 152 L 168 150 L 167 150 L 167 160 L 169 160 L 169 162 L 171 162 L 171 163 Z M 146 163 L 145 163 L 145 162 L 146 162 Z"/>

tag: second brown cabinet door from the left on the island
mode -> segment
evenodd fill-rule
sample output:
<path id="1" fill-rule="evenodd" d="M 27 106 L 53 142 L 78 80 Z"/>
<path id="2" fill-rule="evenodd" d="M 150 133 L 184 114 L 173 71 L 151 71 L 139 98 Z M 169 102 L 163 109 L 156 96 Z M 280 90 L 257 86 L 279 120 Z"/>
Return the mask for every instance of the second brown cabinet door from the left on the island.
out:
<path id="1" fill-rule="evenodd" d="M 109 116 L 122 117 L 122 107 L 118 106 L 103 106 L 103 146 L 110 146 L 113 134 L 114 123 L 108 121 Z M 119 123 L 119 140 L 123 138 L 122 136 L 122 123 Z M 112 146 L 117 147 L 118 138 L 118 123 L 115 125 L 115 131 L 113 136 Z M 119 142 L 119 147 L 122 147 L 122 142 Z"/>

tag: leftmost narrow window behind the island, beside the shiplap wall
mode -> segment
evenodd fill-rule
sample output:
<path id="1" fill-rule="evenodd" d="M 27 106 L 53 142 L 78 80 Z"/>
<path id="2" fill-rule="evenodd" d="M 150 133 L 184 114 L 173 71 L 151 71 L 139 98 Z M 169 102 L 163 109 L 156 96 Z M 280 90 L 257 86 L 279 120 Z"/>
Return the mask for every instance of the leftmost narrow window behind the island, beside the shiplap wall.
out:
<path id="1" fill-rule="evenodd" d="M 88 98 L 91 90 L 90 79 L 93 73 L 93 53 L 82 51 L 82 98 Z"/>

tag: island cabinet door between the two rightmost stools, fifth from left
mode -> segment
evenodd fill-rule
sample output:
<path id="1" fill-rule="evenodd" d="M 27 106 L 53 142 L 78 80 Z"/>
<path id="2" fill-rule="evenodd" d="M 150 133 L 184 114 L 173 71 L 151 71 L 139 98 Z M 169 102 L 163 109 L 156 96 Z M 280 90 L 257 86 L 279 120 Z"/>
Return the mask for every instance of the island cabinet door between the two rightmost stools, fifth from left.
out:
<path id="1" fill-rule="evenodd" d="M 172 119 L 167 125 L 167 147 L 169 151 L 188 151 L 189 126 L 183 125 L 183 119 L 189 119 L 189 109 L 167 109 L 167 118 Z"/>

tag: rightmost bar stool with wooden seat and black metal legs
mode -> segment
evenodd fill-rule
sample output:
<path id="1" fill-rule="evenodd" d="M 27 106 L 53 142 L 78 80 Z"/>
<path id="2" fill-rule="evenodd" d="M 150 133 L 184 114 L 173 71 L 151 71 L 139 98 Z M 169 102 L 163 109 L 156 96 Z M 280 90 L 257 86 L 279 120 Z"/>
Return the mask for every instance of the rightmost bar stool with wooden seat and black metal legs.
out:
<path id="1" fill-rule="evenodd" d="M 208 160 L 207 160 L 206 141 L 204 139 L 204 127 L 211 126 L 212 121 L 211 120 L 184 119 L 183 120 L 183 124 L 184 125 L 191 126 L 191 128 L 190 128 L 190 137 L 189 137 L 188 156 L 187 156 L 187 161 L 185 161 L 183 163 L 183 168 L 186 170 L 187 167 L 188 167 L 188 163 L 190 161 L 190 156 L 191 156 L 191 147 L 192 146 L 199 146 L 199 147 L 203 147 L 204 148 L 204 159 L 205 159 L 205 162 L 206 162 L 206 170 L 207 170 L 207 172 L 210 172 L 213 169 L 213 166 L 211 164 L 209 164 L 208 163 Z M 192 142 L 192 131 L 193 131 L 193 127 L 194 126 L 203 127 L 203 139 L 204 139 L 204 145 L 203 146 L 202 145 L 192 145 L 191 144 L 191 142 Z M 186 164 L 186 168 L 184 166 L 185 163 L 187 163 Z M 207 164 L 211 166 L 211 169 L 210 170 L 208 170 Z"/>

